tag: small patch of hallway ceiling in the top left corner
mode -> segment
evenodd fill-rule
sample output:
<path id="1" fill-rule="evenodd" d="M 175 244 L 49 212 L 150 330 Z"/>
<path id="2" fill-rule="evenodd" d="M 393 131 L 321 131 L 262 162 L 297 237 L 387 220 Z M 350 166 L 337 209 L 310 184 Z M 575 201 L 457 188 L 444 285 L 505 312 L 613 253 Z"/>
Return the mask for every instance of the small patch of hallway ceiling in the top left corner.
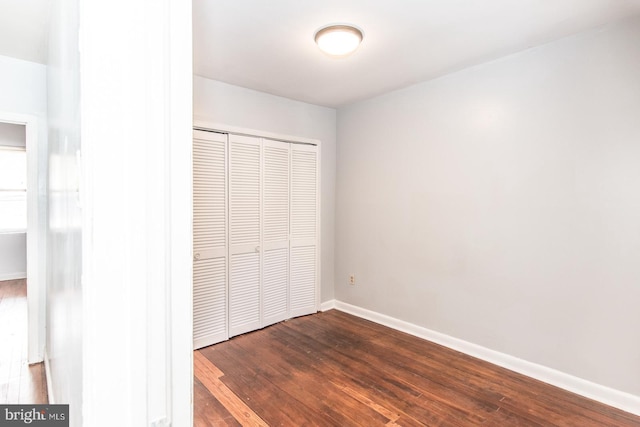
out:
<path id="1" fill-rule="evenodd" d="M 0 55 L 47 62 L 51 0 L 0 0 Z"/>

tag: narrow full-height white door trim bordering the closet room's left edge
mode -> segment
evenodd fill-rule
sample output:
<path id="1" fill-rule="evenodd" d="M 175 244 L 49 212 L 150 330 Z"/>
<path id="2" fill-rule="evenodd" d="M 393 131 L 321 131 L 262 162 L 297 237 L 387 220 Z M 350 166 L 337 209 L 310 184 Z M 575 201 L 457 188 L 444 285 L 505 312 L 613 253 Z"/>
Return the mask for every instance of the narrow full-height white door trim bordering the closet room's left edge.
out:
<path id="1" fill-rule="evenodd" d="M 166 213 L 170 222 L 168 418 L 172 426 L 193 425 L 193 54 L 192 4 L 166 0 L 169 76 L 169 168 L 171 193 Z"/>

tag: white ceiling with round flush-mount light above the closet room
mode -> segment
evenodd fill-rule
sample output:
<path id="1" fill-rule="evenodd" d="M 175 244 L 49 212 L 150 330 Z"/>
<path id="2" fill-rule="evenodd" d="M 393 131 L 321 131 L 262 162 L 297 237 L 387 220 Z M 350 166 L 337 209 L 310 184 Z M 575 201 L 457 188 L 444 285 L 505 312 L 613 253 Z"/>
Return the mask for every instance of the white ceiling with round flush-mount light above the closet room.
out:
<path id="1" fill-rule="evenodd" d="M 640 0 L 193 0 L 194 73 L 337 107 L 640 13 Z M 346 59 L 315 31 L 364 31 Z"/>

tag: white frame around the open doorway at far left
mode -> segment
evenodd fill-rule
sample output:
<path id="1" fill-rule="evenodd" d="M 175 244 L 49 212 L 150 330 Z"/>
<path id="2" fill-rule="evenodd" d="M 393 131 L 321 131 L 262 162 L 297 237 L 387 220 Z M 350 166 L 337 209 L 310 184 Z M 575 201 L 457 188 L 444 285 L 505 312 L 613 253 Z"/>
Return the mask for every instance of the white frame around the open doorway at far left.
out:
<path id="1" fill-rule="evenodd" d="M 39 257 L 43 243 L 40 232 L 38 193 L 38 119 L 28 114 L 0 111 L 0 122 L 25 127 L 27 151 L 27 353 L 29 363 L 44 360 L 45 343 L 45 282 L 44 260 Z"/>

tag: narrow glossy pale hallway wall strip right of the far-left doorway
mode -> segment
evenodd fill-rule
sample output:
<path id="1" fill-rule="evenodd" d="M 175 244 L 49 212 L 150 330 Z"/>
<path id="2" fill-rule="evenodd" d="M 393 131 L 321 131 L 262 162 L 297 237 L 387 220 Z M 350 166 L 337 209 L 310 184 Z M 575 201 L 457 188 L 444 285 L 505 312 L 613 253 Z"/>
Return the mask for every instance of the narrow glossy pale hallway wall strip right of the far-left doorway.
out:
<path id="1" fill-rule="evenodd" d="M 47 102 L 47 380 L 50 403 L 69 403 L 70 425 L 82 425 L 87 389 L 83 340 L 83 233 L 79 202 L 80 65 L 78 2 L 51 2 Z M 106 160 L 101 159 L 104 164 Z M 113 258 L 109 262 L 114 262 Z M 86 279 L 86 276 L 85 276 Z M 111 292 L 114 292 L 113 289 Z M 108 303 L 101 300 L 102 306 Z M 118 314 L 122 312 L 119 310 Z M 94 313 L 95 315 L 95 313 Z M 104 341 L 102 341 L 104 345 Z M 113 380 L 113 377 L 110 378 Z M 122 386 L 122 384 L 120 384 Z M 86 421 L 85 421 L 86 422 Z"/>

